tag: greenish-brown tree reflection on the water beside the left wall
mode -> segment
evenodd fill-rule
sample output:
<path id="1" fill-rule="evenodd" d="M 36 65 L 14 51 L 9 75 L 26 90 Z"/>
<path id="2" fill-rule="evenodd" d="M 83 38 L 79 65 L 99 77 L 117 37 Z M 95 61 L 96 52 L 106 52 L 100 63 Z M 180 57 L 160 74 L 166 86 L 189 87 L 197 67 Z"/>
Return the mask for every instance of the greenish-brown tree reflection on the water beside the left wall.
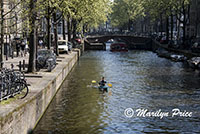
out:
<path id="1" fill-rule="evenodd" d="M 87 86 L 91 84 L 91 80 L 101 78 L 98 72 L 103 71 L 103 68 L 99 63 L 93 60 L 93 57 L 87 57 L 76 65 L 56 94 L 35 132 L 87 133 L 92 127 L 105 127 L 102 115 L 106 97 L 98 89 Z"/>

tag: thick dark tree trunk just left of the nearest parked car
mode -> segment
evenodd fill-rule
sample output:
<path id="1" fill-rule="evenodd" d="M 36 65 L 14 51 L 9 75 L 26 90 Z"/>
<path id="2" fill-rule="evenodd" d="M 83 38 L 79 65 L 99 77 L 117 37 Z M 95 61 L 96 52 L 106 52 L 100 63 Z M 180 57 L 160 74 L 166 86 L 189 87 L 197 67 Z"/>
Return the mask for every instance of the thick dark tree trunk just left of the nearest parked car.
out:
<path id="1" fill-rule="evenodd" d="M 33 11 L 34 7 L 35 7 L 34 0 L 30 0 L 30 33 L 29 33 L 30 55 L 29 55 L 28 72 L 36 71 L 36 26 L 35 26 L 36 15 L 35 11 Z"/>

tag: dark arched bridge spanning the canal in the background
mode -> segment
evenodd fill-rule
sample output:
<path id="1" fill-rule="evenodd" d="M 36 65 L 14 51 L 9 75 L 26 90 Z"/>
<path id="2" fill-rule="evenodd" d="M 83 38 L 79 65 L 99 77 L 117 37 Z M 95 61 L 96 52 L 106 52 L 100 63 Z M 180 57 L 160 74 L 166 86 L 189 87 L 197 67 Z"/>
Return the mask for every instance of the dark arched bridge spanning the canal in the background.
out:
<path id="1" fill-rule="evenodd" d="M 86 38 L 85 49 L 94 50 L 95 48 L 101 49 L 100 44 L 103 45 L 102 49 L 105 49 L 105 43 L 109 40 L 115 40 L 117 42 L 124 42 L 128 45 L 129 49 L 151 50 L 152 40 L 147 37 L 136 37 L 131 35 L 102 35 L 91 36 Z"/>

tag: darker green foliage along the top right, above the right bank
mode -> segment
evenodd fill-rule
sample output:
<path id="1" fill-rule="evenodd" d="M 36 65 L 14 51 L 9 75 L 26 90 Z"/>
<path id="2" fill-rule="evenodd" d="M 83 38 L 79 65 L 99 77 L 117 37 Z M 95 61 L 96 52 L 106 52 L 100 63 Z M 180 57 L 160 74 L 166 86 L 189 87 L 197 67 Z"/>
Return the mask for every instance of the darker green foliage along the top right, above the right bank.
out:
<path id="1" fill-rule="evenodd" d="M 111 14 L 113 26 L 123 26 L 129 20 L 150 15 L 152 20 L 169 16 L 172 12 L 181 12 L 183 5 L 190 4 L 191 0 L 114 0 Z"/>

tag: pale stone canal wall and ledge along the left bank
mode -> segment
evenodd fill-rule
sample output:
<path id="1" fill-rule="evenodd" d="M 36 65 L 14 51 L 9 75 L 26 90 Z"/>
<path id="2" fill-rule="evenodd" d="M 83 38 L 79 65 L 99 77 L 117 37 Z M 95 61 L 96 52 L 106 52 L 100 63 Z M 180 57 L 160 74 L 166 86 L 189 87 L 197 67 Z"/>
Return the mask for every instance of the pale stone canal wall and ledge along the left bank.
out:
<path id="1" fill-rule="evenodd" d="M 0 104 L 0 134 L 27 134 L 38 123 L 66 76 L 78 61 L 80 50 L 58 57 L 52 72 L 27 74 L 30 92 L 24 99 Z M 8 100 L 7 100 L 8 101 Z"/>

